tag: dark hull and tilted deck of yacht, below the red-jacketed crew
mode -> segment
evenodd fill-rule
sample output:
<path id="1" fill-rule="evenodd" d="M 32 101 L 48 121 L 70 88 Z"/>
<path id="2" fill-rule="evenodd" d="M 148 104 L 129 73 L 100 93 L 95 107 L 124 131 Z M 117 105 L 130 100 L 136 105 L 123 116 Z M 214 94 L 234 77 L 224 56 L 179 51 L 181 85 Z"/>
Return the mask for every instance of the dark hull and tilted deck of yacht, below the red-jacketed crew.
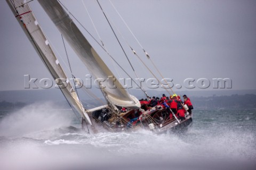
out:
<path id="1" fill-rule="evenodd" d="M 129 113 L 132 113 L 132 111 L 125 113 L 122 118 L 119 118 L 119 123 L 115 122 L 114 124 L 111 123 L 111 121 L 108 121 L 111 118 L 99 120 L 100 114 L 102 113 L 101 111 L 94 112 L 92 118 L 94 119 L 95 124 L 98 124 L 104 129 L 112 132 L 140 131 L 142 129 L 146 129 L 153 131 L 154 133 L 166 133 L 170 131 L 180 133 L 188 130 L 189 126 L 192 124 L 191 114 L 187 115 L 185 120 L 179 120 L 180 122 L 178 122 L 175 116 L 175 118 L 172 117 L 170 119 L 169 114 L 166 114 L 167 112 L 162 107 L 150 109 L 147 112 L 148 113 L 145 115 L 144 119 L 137 119 L 137 121 L 134 121 L 133 123 L 129 122 L 129 119 L 127 118 Z M 159 120 L 160 116 L 162 116 L 162 120 Z M 98 129 L 96 128 L 97 126 L 95 126 L 95 130 Z"/>

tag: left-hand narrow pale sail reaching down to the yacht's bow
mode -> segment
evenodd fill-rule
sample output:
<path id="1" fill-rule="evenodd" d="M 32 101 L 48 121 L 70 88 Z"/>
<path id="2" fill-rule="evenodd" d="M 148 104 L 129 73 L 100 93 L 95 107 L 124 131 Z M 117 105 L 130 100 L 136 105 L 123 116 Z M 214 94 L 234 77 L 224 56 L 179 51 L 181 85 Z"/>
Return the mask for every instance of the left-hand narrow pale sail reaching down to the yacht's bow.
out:
<path id="1" fill-rule="evenodd" d="M 75 90 L 71 86 L 67 75 L 63 71 L 57 57 L 54 55 L 53 50 L 28 3 L 23 0 L 6 0 L 6 2 L 9 4 L 15 18 L 17 18 L 23 31 L 30 40 L 30 43 L 36 49 L 36 52 L 52 74 L 56 83 L 59 87 L 62 87 L 61 91 L 63 92 L 63 95 L 65 95 L 68 102 L 76 109 L 76 111 L 85 118 L 86 122 L 92 124 L 81 101 L 79 101 Z"/>

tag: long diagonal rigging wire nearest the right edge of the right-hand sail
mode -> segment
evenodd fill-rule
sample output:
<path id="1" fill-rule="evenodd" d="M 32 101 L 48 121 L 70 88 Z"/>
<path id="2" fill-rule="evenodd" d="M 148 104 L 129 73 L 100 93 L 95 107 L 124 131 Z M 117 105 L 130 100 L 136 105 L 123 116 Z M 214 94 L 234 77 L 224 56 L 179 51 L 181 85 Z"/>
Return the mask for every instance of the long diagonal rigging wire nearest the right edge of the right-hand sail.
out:
<path id="1" fill-rule="evenodd" d="M 115 58 L 114 58 L 113 56 L 111 56 L 111 55 L 105 50 L 105 48 L 103 48 L 103 47 L 100 45 L 99 41 L 98 41 L 97 39 L 95 39 L 95 38 L 92 36 L 92 34 L 84 27 L 84 25 L 76 19 L 76 17 L 68 10 L 68 8 L 67 8 L 65 5 L 63 5 L 63 4 L 60 2 L 60 0 L 57 0 L 57 1 L 67 10 L 67 12 L 68 12 L 71 16 L 73 16 L 73 18 L 78 22 L 78 24 L 81 25 L 81 27 L 82 27 L 82 28 L 92 37 L 92 39 L 107 53 L 107 55 L 109 55 L 109 56 L 113 59 L 113 61 L 123 70 L 123 72 L 125 72 L 125 74 L 140 88 L 139 84 L 138 84 L 135 80 L 133 80 L 133 78 L 131 77 L 131 75 L 130 75 L 129 73 L 127 73 L 127 72 L 123 69 L 123 67 L 115 60 Z M 140 88 L 140 89 L 141 89 L 141 88 Z M 142 89 L 141 89 L 141 90 L 142 90 Z M 142 91 L 143 91 L 143 90 L 142 90 Z M 147 96 L 147 92 L 146 92 L 146 91 L 143 91 L 143 93 Z"/>

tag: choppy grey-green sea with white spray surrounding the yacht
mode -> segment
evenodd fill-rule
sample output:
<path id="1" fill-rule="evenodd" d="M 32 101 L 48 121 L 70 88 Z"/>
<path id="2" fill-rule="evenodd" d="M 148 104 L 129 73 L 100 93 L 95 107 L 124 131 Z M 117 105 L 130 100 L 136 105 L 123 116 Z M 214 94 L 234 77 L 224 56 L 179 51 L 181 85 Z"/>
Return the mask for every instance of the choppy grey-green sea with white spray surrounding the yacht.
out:
<path id="1" fill-rule="evenodd" d="M 71 110 L 0 114 L 0 169 L 256 169 L 255 109 L 194 109 L 183 133 L 81 130 Z"/>

